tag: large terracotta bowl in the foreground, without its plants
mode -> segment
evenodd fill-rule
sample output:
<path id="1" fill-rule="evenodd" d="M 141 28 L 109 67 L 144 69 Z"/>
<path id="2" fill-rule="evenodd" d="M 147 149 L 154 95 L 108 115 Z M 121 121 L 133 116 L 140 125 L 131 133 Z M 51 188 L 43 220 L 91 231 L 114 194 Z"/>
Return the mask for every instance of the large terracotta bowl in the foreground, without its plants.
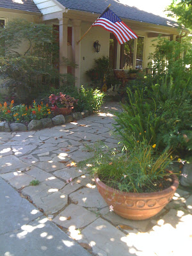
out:
<path id="1" fill-rule="evenodd" d="M 129 220 L 146 220 L 158 212 L 172 200 L 179 186 L 177 176 L 172 175 L 173 184 L 170 188 L 151 193 L 127 193 L 106 186 L 95 175 L 97 189 L 108 205 L 119 216 Z"/>

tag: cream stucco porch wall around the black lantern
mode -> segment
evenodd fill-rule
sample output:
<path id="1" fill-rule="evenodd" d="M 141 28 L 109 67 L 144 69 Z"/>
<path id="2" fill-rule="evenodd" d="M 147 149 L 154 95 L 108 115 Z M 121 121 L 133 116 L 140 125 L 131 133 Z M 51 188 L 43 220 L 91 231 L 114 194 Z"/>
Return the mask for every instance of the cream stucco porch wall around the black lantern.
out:
<path id="1" fill-rule="evenodd" d="M 81 35 L 92 26 L 92 23 L 81 23 Z M 100 52 L 95 52 L 93 43 L 98 40 L 100 46 Z M 88 83 L 88 77 L 86 76 L 86 70 L 89 70 L 94 65 L 94 59 L 101 58 L 102 56 L 109 56 L 109 32 L 100 27 L 93 27 L 88 34 L 84 36 L 81 41 L 81 76 L 80 83 Z M 83 60 L 84 58 L 84 60 Z"/>

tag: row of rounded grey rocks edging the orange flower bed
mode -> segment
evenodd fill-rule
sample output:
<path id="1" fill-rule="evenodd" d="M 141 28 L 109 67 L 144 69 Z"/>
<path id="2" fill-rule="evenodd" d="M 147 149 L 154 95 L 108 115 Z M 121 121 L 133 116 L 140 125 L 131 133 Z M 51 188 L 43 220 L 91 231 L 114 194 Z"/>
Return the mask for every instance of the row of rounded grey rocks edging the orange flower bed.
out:
<path id="1" fill-rule="evenodd" d="M 31 120 L 28 126 L 22 123 L 12 123 L 9 122 L 0 122 L 0 132 L 22 132 L 22 131 L 36 131 L 42 130 L 45 128 L 50 128 L 56 125 L 63 125 L 75 120 L 79 120 L 81 118 L 92 115 L 92 111 L 84 110 L 82 112 L 74 112 L 70 115 L 63 116 L 57 115 L 53 118 L 42 118 L 40 120 Z"/>

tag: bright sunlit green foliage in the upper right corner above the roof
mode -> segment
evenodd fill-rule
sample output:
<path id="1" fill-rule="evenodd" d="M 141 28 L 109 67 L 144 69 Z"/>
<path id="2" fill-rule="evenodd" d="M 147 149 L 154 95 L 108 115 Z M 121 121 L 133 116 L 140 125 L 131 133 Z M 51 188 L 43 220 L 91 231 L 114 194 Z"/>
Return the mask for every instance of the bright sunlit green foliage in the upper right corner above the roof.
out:
<path id="1" fill-rule="evenodd" d="M 170 13 L 168 16 L 175 17 L 180 25 L 192 30 L 192 1 L 173 0 L 172 4 L 166 8 Z"/>

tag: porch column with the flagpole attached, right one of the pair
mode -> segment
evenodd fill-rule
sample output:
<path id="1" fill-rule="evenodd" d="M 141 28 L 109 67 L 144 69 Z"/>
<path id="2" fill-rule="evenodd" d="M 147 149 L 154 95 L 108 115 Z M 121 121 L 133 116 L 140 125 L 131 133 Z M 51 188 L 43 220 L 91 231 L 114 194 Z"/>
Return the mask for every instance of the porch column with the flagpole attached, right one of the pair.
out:
<path id="1" fill-rule="evenodd" d="M 76 77 L 76 87 L 80 88 L 80 49 L 81 42 L 77 44 L 81 37 L 81 20 L 72 20 L 72 58 L 78 65 L 77 68 L 73 68 L 72 74 Z"/>

